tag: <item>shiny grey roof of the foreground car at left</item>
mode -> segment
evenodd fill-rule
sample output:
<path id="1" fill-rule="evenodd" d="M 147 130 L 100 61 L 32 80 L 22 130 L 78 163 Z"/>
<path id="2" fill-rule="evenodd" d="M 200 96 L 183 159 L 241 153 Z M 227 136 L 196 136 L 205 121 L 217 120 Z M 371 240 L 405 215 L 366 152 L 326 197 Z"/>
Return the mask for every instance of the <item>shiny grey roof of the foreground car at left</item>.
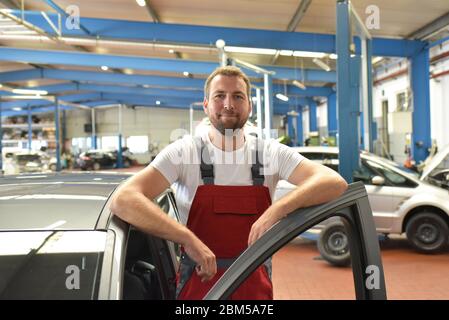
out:
<path id="1" fill-rule="evenodd" d="M 129 174 L 49 173 L 0 178 L 0 230 L 94 230 Z"/>

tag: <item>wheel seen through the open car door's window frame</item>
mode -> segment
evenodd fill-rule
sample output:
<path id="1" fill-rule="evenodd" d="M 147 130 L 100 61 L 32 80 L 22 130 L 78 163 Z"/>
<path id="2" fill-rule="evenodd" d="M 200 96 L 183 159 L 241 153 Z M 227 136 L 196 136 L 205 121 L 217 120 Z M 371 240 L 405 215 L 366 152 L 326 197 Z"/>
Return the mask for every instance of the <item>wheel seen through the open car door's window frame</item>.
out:
<path id="1" fill-rule="evenodd" d="M 317 246 L 323 259 L 330 264 L 340 267 L 351 264 L 348 236 L 343 222 L 328 224 L 321 231 Z"/>

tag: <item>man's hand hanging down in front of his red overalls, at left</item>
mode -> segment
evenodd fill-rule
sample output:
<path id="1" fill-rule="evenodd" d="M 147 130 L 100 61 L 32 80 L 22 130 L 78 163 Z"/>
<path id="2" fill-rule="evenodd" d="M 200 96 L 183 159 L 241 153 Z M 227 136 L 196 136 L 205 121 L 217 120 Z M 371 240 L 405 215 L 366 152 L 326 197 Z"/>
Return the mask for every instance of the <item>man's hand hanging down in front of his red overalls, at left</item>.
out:
<path id="1" fill-rule="evenodd" d="M 193 233 L 190 241 L 184 244 L 187 255 L 197 263 L 195 271 L 202 282 L 209 281 L 217 273 L 214 253 Z"/>

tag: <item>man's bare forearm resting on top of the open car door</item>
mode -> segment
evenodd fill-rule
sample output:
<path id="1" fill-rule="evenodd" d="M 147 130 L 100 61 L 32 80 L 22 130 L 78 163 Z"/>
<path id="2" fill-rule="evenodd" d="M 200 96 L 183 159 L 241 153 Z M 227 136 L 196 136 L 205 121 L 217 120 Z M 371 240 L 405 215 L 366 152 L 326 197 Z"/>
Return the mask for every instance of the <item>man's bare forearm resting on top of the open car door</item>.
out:
<path id="1" fill-rule="evenodd" d="M 335 175 L 314 175 L 273 204 L 278 219 L 298 208 L 322 204 L 338 198 L 346 190 L 346 182 Z"/>

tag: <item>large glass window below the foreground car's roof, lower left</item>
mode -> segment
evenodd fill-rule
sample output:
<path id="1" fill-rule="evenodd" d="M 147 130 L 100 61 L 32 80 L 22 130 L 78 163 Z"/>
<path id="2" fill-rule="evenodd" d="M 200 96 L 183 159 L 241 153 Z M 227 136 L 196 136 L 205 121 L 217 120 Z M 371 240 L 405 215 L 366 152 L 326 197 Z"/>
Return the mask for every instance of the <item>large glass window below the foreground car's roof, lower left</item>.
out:
<path id="1" fill-rule="evenodd" d="M 96 299 L 106 233 L 0 233 L 0 299 Z"/>

